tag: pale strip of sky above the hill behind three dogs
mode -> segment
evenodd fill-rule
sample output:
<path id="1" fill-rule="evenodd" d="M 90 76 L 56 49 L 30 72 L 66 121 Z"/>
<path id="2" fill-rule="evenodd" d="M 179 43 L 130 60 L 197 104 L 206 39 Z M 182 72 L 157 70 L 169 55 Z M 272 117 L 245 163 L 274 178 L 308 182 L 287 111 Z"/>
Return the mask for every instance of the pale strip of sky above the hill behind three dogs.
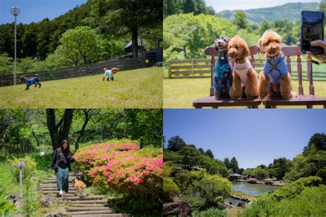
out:
<path id="1" fill-rule="evenodd" d="M 320 2 L 319 0 L 279 0 L 279 1 L 263 1 L 263 0 L 205 0 L 206 5 L 212 6 L 215 12 L 221 12 L 222 10 L 248 10 L 254 8 L 269 8 L 285 3 L 296 2 Z"/>

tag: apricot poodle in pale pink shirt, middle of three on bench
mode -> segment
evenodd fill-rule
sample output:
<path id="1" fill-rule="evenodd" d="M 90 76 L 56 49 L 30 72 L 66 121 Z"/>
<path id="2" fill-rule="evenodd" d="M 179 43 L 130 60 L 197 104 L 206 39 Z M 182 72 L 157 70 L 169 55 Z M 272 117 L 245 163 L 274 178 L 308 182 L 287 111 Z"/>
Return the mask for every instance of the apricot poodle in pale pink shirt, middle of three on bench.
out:
<path id="1" fill-rule="evenodd" d="M 232 99 L 256 98 L 258 96 L 257 72 L 247 58 L 250 55 L 250 50 L 246 41 L 240 36 L 231 38 L 228 43 L 228 55 L 235 60 L 230 97 Z"/>

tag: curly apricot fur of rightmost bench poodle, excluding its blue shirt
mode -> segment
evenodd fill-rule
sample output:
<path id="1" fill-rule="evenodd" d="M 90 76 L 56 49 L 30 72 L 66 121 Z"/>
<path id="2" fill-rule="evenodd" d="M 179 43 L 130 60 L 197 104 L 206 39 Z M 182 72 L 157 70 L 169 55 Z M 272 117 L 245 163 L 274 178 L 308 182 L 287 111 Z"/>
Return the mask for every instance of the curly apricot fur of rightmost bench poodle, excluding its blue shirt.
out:
<path id="1" fill-rule="evenodd" d="M 265 55 L 265 58 L 272 60 L 282 55 L 282 38 L 273 30 L 266 30 L 259 39 L 259 49 Z M 270 91 L 272 90 L 272 91 Z M 291 75 L 281 77 L 281 84 L 270 82 L 269 76 L 265 76 L 263 71 L 259 75 L 259 98 L 293 98 L 296 93 L 292 91 Z"/>

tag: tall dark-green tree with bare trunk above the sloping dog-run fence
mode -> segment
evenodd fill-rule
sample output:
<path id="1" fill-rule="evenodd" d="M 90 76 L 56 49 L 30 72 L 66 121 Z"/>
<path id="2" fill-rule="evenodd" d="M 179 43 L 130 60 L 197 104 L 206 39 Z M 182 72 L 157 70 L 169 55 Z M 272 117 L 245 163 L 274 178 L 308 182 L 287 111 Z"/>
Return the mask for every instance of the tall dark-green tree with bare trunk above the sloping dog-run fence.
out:
<path id="1" fill-rule="evenodd" d="M 103 32 L 131 34 L 133 57 L 138 56 L 140 30 L 162 25 L 162 0 L 94 0 L 93 10 Z"/>

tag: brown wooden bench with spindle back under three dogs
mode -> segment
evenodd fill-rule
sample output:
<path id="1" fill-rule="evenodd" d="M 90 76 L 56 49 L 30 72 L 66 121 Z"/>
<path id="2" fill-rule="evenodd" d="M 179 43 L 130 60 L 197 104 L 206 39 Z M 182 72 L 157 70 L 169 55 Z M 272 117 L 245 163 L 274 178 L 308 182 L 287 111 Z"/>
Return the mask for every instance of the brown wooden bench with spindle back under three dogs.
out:
<path id="1" fill-rule="evenodd" d="M 259 48 L 255 46 L 250 46 L 250 62 L 252 67 L 254 67 L 254 55 L 259 54 Z M 307 106 L 308 109 L 311 109 L 313 105 L 323 105 L 326 108 L 326 97 L 320 97 L 314 95 L 314 85 L 313 85 L 313 76 L 312 76 L 312 58 L 307 56 L 307 70 L 309 76 L 309 95 L 303 95 L 303 86 L 302 86 L 302 67 L 301 67 L 301 55 L 302 52 L 298 47 L 282 47 L 282 52 L 286 56 L 287 70 L 291 73 L 291 60 L 290 56 L 296 56 L 296 67 L 298 71 L 298 97 L 290 98 L 288 100 L 281 98 L 265 98 L 263 100 L 259 99 L 226 99 L 226 100 L 215 100 L 214 98 L 214 87 L 213 87 L 213 69 L 215 68 L 217 51 L 214 47 L 206 47 L 204 50 L 207 56 L 211 56 L 211 67 L 210 67 L 210 95 L 206 98 L 195 100 L 193 106 L 196 109 L 201 109 L 203 107 L 212 107 L 217 109 L 222 106 L 247 106 L 248 109 L 257 109 L 259 104 L 263 104 L 266 109 L 274 109 L 276 106 Z M 232 60 L 232 65 L 235 62 Z M 259 74 L 260 71 L 257 71 Z M 292 81 L 293 82 L 293 81 Z"/>

